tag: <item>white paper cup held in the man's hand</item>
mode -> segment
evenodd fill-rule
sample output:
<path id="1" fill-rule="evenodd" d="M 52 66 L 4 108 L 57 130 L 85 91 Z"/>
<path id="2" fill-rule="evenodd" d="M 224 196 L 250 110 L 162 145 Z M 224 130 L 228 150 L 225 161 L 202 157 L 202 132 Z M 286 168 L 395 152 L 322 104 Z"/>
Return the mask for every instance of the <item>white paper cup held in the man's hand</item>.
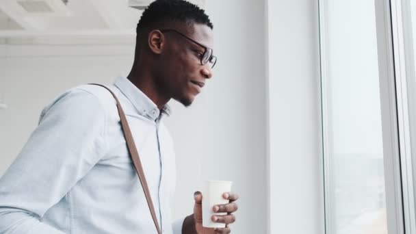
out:
<path id="1" fill-rule="evenodd" d="M 207 228 L 224 228 L 225 224 L 212 222 L 211 217 L 226 215 L 226 213 L 215 213 L 214 205 L 228 204 L 229 200 L 224 199 L 224 192 L 231 192 L 231 181 L 205 181 L 203 186 L 203 226 Z"/>

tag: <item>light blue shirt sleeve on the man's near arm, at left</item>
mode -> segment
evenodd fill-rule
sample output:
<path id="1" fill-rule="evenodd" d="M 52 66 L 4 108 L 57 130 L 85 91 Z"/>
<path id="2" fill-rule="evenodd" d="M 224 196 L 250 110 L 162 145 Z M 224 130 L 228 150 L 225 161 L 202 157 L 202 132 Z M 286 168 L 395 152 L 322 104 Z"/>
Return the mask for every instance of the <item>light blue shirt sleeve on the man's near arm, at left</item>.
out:
<path id="1" fill-rule="evenodd" d="M 0 233 L 61 234 L 41 222 L 105 153 L 99 99 L 71 90 L 42 112 L 38 127 L 0 179 Z"/>

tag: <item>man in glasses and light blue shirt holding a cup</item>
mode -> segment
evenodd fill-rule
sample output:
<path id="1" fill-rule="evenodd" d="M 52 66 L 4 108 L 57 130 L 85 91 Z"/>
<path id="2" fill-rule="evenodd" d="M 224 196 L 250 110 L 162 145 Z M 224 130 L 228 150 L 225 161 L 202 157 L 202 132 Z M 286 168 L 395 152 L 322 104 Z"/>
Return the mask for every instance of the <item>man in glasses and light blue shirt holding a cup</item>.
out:
<path id="1" fill-rule="evenodd" d="M 212 24 L 182 0 L 157 0 L 138 23 L 135 60 L 127 78 L 109 88 L 125 111 L 163 233 L 230 233 L 205 229 L 202 194 L 194 213 L 172 223 L 175 185 L 172 141 L 161 120 L 175 99 L 191 105 L 212 76 Z M 156 233 L 127 151 L 113 96 L 79 86 L 45 107 L 39 125 L 0 180 L 0 233 Z M 238 196 L 216 205 L 214 222 L 235 222 Z"/>

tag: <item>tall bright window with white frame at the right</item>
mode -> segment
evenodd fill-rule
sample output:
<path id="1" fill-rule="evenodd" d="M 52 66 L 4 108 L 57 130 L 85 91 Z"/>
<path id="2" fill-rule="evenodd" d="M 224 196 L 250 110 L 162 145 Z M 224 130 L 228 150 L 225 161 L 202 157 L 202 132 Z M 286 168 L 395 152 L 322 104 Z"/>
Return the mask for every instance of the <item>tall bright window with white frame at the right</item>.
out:
<path id="1" fill-rule="evenodd" d="M 415 234 L 416 3 L 320 1 L 328 234 Z"/>

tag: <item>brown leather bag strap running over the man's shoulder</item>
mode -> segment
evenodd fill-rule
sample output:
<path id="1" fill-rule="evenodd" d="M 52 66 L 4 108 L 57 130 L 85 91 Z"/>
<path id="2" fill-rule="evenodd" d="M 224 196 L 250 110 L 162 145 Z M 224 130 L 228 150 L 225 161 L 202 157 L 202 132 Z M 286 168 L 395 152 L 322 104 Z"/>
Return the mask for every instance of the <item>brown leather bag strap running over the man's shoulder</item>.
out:
<path id="1" fill-rule="evenodd" d="M 122 131 L 125 135 L 125 139 L 126 139 L 126 142 L 127 142 L 127 148 L 129 149 L 130 157 L 133 160 L 135 171 L 138 172 L 140 183 L 142 183 L 144 195 L 146 196 L 146 200 L 147 200 L 147 204 L 148 204 L 148 209 L 150 209 L 150 211 L 151 211 L 151 215 L 152 215 L 152 218 L 153 218 L 153 222 L 155 222 L 157 233 L 161 234 L 160 227 L 159 227 L 159 222 L 157 222 L 157 218 L 156 218 L 155 207 L 153 207 L 151 193 L 148 190 L 146 177 L 144 176 L 142 162 L 140 161 L 138 149 L 136 148 L 136 146 L 134 144 L 133 135 L 131 135 L 131 130 L 130 130 L 130 127 L 129 127 L 129 123 L 127 122 L 125 112 L 123 112 L 122 107 L 120 105 L 120 102 L 118 101 L 118 99 L 116 97 L 116 94 L 114 94 L 114 92 L 112 92 L 112 90 L 110 90 L 109 88 L 107 88 L 107 87 L 105 87 L 101 84 L 98 84 L 98 83 L 90 83 L 90 85 L 101 86 L 101 87 L 107 89 L 109 92 L 112 93 L 112 95 L 114 96 L 114 99 L 116 99 L 118 114 L 120 115 L 121 127 L 122 127 Z"/>

